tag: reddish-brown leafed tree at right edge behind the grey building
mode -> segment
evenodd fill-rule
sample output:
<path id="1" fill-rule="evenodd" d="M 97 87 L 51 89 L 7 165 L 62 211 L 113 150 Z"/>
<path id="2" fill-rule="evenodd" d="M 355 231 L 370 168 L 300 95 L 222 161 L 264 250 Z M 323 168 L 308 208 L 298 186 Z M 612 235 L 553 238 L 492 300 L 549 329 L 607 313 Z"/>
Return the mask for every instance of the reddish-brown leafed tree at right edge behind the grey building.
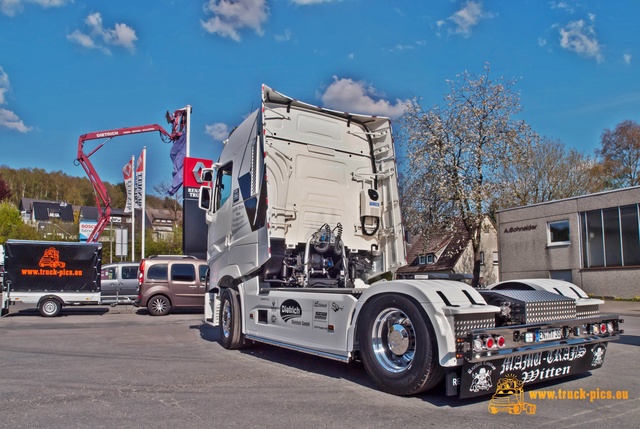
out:
<path id="1" fill-rule="evenodd" d="M 600 148 L 604 187 L 609 189 L 640 185 L 640 124 L 622 121 L 615 129 L 605 129 Z"/>

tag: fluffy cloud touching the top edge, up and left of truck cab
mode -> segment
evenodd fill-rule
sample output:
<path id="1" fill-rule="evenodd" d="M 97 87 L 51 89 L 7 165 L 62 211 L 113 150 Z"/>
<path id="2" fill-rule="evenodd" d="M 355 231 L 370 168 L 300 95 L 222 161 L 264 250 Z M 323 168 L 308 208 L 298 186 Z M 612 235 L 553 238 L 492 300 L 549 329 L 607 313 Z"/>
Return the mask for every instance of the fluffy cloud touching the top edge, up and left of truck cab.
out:
<path id="1" fill-rule="evenodd" d="M 267 0 L 209 0 L 205 12 L 213 13 L 207 21 L 200 21 L 205 31 L 241 40 L 239 30 L 249 28 L 262 36 L 262 25 L 269 17 Z"/>

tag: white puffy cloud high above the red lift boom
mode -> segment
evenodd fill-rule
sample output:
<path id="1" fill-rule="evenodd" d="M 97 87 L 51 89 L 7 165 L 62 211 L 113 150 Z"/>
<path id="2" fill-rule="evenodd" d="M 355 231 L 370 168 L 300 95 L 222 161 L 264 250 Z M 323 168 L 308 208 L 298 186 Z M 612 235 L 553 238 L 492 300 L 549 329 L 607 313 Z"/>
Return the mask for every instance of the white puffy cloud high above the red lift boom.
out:
<path id="1" fill-rule="evenodd" d="M 87 49 L 100 49 L 106 54 L 111 54 L 107 45 L 120 46 L 131 53 L 135 52 L 135 42 L 138 40 L 138 36 L 136 36 L 135 30 L 127 24 L 116 23 L 113 28 L 104 28 L 102 15 L 99 12 L 90 14 L 84 22 L 89 27 L 89 31 L 83 33 L 80 30 L 75 30 L 67 35 L 69 41 Z"/>

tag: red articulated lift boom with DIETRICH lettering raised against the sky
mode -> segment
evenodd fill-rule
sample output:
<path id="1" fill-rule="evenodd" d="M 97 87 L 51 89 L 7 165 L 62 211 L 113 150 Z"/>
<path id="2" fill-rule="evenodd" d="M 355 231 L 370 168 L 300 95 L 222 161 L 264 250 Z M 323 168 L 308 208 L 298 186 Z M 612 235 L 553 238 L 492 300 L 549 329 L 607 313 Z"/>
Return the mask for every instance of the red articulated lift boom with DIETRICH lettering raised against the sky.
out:
<path id="1" fill-rule="evenodd" d="M 141 133 L 150 133 L 153 131 L 158 131 L 160 133 L 160 138 L 169 143 L 175 142 L 180 138 L 180 136 L 186 131 L 187 128 L 187 108 L 176 110 L 173 115 L 167 112 L 167 123 L 171 124 L 171 133 L 165 131 L 158 124 L 151 125 L 143 125 L 140 127 L 128 127 L 128 128 L 118 128 L 115 130 L 106 130 L 106 131 L 97 131 L 94 133 L 83 134 L 78 138 L 78 158 L 75 160 L 75 165 L 82 165 L 84 171 L 89 176 L 89 181 L 93 185 L 93 189 L 96 194 L 96 206 L 98 207 L 98 223 L 89 237 L 87 238 L 88 243 L 95 243 L 98 241 L 100 234 L 104 231 L 104 228 L 107 226 L 109 222 L 109 218 L 111 217 L 111 198 L 107 195 L 107 189 L 104 186 L 104 183 L 98 176 L 98 172 L 93 167 L 93 164 L 89 160 L 89 157 L 96 153 L 98 149 L 104 146 L 109 140 L 114 137 L 120 136 L 131 136 Z M 99 144 L 95 149 L 86 154 L 84 152 L 84 143 L 88 140 L 97 140 L 97 139 L 106 139 L 104 142 Z"/>

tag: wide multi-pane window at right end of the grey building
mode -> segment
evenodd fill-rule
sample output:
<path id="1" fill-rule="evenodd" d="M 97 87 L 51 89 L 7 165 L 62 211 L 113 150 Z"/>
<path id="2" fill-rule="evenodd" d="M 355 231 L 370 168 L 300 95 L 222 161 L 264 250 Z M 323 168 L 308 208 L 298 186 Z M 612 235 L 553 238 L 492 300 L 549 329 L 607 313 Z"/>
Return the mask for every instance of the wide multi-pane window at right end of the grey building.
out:
<path id="1" fill-rule="evenodd" d="M 580 213 L 585 268 L 640 265 L 638 204 Z"/>

